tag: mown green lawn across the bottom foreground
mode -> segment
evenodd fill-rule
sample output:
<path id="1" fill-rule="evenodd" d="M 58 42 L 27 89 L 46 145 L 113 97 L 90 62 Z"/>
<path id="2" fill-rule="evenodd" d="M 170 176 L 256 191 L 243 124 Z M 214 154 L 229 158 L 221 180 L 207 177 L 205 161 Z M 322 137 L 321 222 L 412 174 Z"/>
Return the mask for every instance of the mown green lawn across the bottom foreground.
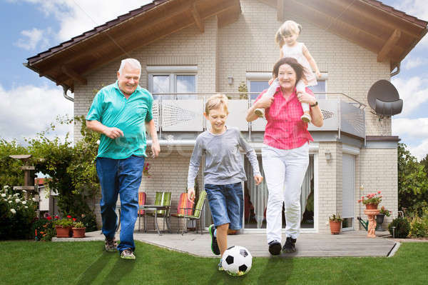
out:
<path id="1" fill-rule="evenodd" d="M 404 243 L 391 258 L 253 258 L 241 277 L 218 259 L 136 241 L 135 261 L 103 251 L 103 241 L 0 242 L 0 284 L 427 284 L 428 243 Z"/>

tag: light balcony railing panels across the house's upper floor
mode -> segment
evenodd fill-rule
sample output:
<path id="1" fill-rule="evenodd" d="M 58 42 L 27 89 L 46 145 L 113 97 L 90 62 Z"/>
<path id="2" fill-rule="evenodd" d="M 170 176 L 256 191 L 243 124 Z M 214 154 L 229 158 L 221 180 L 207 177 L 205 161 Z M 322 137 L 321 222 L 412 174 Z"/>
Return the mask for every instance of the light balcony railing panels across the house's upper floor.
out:
<path id="1" fill-rule="evenodd" d="M 205 101 L 218 93 L 197 94 L 153 94 L 153 119 L 158 131 L 162 132 L 200 132 L 207 129 L 203 117 Z M 243 96 L 242 93 L 223 93 L 231 98 Z M 245 94 L 244 94 L 245 95 Z M 236 126 L 243 132 L 265 131 L 265 119 L 251 123 L 245 121 L 245 114 L 258 94 L 250 94 L 246 99 L 229 100 L 229 116 L 226 124 Z M 342 93 L 316 93 L 318 104 L 324 117 L 324 124 L 318 128 L 309 124 L 309 131 L 338 131 L 365 138 L 366 105 Z"/>

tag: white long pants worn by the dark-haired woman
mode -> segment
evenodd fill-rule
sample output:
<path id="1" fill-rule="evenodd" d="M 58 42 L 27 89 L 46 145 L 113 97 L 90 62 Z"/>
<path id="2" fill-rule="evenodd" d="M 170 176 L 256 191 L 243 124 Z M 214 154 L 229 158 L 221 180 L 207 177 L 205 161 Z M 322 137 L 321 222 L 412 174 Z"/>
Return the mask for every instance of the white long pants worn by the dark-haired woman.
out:
<path id="1" fill-rule="evenodd" d="M 263 145 L 263 170 L 269 197 L 266 210 L 267 243 L 281 242 L 282 203 L 285 203 L 285 236 L 297 239 L 300 232 L 300 194 L 307 166 L 309 144 L 296 149 L 275 149 Z"/>

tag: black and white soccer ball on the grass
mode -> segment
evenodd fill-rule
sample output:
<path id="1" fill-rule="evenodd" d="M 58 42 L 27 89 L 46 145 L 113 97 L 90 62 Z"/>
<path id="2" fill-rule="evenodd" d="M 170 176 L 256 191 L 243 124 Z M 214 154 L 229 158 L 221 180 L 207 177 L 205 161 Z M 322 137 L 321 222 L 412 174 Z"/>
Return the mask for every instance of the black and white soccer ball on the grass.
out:
<path id="1" fill-rule="evenodd" d="M 253 264 L 253 256 L 243 246 L 230 246 L 223 253 L 221 265 L 228 274 L 241 276 L 247 274 Z"/>

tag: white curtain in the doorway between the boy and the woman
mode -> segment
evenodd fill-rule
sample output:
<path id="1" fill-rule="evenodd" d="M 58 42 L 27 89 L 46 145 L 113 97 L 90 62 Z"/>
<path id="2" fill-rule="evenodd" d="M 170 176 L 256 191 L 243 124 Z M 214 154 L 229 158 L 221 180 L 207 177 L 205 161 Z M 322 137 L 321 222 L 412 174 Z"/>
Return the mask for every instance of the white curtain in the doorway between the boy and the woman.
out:
<path id="1" fill-rule="evenodd" d="M 257 157 L 260 173 L 265 177 L 265 172 L 263 171 L 263 164 L 261 156 Z M 254 183 L 253 168 L 249 161 L 245 163 L 245 174 L 247 174 L 247 186 L 248 192 L 250 193 L 250 201 L 254 206 L 255 219 L 257 221 L 257 228 L 261 229 L 263 224 L 263 219 L 265 219 L 265 208 L 267 205 L 267 186 L 265 180 L 258 186 Z"/>

